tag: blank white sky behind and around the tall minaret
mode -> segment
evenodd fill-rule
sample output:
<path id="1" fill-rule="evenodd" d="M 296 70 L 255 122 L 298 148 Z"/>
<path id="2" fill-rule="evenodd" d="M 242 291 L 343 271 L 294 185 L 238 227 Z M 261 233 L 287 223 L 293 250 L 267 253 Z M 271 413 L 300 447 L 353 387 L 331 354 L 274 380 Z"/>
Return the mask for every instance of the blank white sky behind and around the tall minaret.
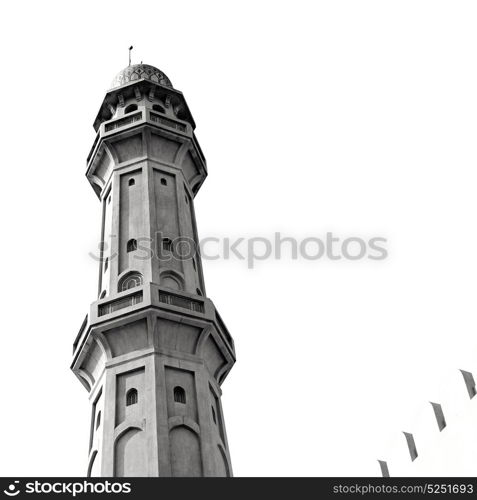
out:
<path id="1" fill-rule="evenodd" d="M 477 375 L 477 4 L 2 6 L 1 475 L 83 475 L 69 371 L 96 297 L 85 160 L 114 75 L 161 68 L 197 123 L 202 237 L 388 238 L 385 261 L 205 262 L 234 336 L 235 475 L 377 475 L 447 370 Z"/>

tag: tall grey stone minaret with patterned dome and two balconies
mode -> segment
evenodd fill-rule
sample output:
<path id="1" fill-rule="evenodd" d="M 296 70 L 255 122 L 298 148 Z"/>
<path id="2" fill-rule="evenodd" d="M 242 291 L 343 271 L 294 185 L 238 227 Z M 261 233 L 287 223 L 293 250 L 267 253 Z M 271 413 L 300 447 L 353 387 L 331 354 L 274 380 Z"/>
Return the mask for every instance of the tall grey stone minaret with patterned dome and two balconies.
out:
<path id="1" fill-rule="evenodd" d="M 116 76 L 94 128 L 86 177 L 103 255 L 71 365 L 91 403 L 88 475 L 231 476 L 220 386 L 235 352 L 205 293 L 194 120 L 167 76 L 138 64 Z"/>

